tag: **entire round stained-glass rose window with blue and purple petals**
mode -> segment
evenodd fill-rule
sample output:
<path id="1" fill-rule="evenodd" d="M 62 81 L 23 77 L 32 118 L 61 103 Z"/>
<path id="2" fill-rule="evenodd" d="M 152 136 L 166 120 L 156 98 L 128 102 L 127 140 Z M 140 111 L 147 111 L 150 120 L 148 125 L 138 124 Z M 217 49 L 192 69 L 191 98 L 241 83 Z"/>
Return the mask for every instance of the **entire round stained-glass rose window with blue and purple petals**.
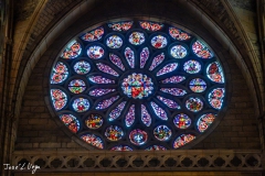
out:
<path id="1" fill-rule="evenodd" d="M 98 150 L 192 146 L 225 106 L 224 69 L 211 47 L 156 21 L 86 30 L 57 54 L 49 82 L 62 123 Z"/>

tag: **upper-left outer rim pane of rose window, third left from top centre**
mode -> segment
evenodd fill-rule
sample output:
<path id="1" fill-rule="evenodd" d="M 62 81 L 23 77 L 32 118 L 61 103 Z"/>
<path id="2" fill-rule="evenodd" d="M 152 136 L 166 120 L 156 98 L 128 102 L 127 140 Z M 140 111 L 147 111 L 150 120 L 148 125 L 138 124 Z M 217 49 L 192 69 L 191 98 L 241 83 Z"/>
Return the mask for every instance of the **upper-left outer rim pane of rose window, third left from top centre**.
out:
<path id="1" fill-rule="evenodd" d="M 74 40 L 67 44 L 61 56 L 66 59 L 76 58 L 81 54 L 81 44 Z"/>

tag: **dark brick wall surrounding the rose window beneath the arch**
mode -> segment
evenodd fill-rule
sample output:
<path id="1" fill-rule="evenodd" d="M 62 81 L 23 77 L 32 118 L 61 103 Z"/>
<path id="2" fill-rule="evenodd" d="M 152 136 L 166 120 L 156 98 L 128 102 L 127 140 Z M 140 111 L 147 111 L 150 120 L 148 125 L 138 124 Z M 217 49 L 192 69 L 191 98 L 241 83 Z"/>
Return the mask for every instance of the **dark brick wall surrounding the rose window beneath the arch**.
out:
<path id="1" fill-rule="evenodd" d="M 242 75 L 244 70 L 237 67 L 226 50 L 230 46 L 223 46 L 214 32 L 202 25 L 200 16 L 195 16 L 182 4 L 171 1 L 153 3 L 109 1 L 104 4 L 99 2 L 95 3 L 86 15 L 62 31 L 62 35 L 54 40 L 34 67 L 23 97 L 15 150 L 85 150 L 66 134 L 64 128 L 56 124 L 54 120 L 56 117 L 47 109 L 45 97 L 49 95 L 51 67 L 62 47 L 77 33 L 96 23 L 126 16 L 147 19 L 151 16 L 180 24 L 200 35 L 219 55 L 227 84 L 226 111 L 222 112 L 223 116 L 220 118 L 223 119 L 219 127 L 192 148 L 259 148 L 254 105 L 250 96 L 251 90 Z"/>

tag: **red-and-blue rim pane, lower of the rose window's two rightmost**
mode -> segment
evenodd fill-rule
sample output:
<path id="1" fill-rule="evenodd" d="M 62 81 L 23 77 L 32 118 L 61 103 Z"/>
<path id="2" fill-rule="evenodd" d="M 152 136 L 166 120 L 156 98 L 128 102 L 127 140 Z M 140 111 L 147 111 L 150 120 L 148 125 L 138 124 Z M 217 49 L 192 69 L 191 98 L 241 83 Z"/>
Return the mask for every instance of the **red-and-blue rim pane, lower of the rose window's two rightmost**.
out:
<path id="1" fill-rule="evenodd" d="M 213 89 L 208 96 L 208 100 L 214 109 L 222 108 L 223 98 L 224 98 L 224 88 Z"/>

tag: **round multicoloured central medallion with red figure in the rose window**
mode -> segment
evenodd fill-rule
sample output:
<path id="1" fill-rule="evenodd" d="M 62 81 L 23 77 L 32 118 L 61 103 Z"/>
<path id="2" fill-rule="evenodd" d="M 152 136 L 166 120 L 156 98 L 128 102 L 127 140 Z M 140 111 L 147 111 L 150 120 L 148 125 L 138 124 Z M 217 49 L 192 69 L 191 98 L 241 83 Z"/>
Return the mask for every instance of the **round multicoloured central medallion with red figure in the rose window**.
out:
<path id="1" fill-rule="evenodd" d="M 124 78 L 121 89 L 129 98 L 142 99 L 152 94 L 153 84 L 147 75 L 134 73 Z"/>

